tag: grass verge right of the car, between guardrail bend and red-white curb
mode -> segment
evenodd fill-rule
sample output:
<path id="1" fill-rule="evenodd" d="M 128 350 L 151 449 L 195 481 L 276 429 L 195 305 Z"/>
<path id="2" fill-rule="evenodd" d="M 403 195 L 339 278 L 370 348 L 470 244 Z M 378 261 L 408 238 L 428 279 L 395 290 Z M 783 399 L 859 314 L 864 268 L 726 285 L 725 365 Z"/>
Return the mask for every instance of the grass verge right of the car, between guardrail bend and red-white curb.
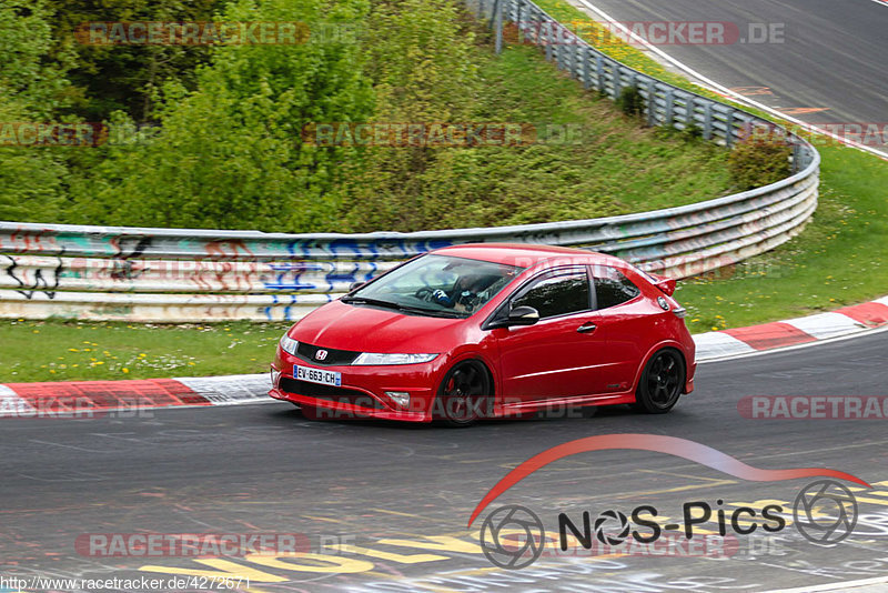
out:
<path id="1" fill-rule="evenodd" d="M 888 165 L 864 152 L 821 148 L 820 203 L 788 243 L 710 277 L 679 283 L 699 333 L 751 325 L 888 294 Z"/>

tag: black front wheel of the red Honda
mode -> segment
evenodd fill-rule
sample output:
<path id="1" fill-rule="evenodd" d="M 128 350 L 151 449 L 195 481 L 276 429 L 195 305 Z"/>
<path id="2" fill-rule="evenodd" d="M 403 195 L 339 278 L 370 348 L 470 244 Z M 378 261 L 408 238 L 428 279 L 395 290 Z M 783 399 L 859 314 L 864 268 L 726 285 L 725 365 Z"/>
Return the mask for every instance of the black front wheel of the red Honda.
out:
<path id="1" fill-rule="evenodd" d="M 447 425 L 465 428 L 487 415 L 491 399 L 491 375 L 478 361 L 457 363 L 444 375 L 437 391 L 435 414 Z"/>

